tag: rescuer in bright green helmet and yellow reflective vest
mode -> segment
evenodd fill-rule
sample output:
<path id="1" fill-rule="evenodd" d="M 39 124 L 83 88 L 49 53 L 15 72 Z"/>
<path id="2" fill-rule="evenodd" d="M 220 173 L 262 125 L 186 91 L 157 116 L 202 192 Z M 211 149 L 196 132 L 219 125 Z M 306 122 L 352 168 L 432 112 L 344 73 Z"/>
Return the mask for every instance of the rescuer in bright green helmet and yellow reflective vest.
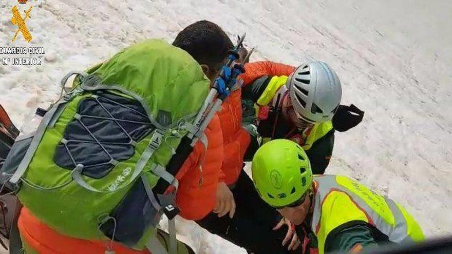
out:
<path id="1" fill-rule="evenodd" d="M 304 247 L 311 253 L 424 241 L 419 224 L 400 204 L 342 175 L 312 175 L 309 157 L 295 142 L 262 145 L 252 174 L 262 200 L 306 236 Z"/>

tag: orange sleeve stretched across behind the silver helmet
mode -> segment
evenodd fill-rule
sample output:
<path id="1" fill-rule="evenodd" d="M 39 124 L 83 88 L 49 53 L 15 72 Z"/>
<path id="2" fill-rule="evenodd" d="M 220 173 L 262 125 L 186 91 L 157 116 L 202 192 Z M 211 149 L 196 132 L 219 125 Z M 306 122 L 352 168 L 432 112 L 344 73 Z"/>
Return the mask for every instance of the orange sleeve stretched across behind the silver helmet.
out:
<path id="1" fill-rule="evenodd" d="M 295 67 L 271 61 L 262 61 L 245 64 L 245 73 L 240 77 L 243 80 L 243 86 L 248 86 L 261 76 L 282 76 L 290 75 Z"/>

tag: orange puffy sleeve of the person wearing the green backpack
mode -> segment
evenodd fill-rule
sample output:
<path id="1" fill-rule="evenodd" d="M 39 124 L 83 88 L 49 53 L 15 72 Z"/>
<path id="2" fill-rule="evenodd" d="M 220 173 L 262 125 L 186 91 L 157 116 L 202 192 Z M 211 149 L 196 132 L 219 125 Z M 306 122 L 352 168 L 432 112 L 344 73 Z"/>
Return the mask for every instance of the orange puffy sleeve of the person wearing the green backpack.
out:
<path id="1" fill-rule="evenodd" d="M 218 115 L 205 131 L 209 145 L 204 149 L 196 143 L 190 157 L 185 161 L 176 178 L 179 189 L 176 205 L 180 216 L 187 220 L 200 220 L 215 207 L 216 189 L 223 164 L 223 134 Z"/>

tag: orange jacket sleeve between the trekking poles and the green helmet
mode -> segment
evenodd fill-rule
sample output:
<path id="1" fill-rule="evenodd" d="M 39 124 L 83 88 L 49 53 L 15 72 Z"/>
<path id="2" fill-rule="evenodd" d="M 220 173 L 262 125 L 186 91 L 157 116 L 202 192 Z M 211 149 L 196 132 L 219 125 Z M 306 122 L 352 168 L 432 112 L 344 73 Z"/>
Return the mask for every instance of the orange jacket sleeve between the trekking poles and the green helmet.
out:
<path id="1" fill-rule="evenodd" d="M 243 167 L 243 156 L 251 140 L 248 131 L 242 128 L 240 89 L 233 91 L 223 102 L 218 115 L 224 142 L 224 161 L 220 181 L 230 185 L 237 182 Z"/>

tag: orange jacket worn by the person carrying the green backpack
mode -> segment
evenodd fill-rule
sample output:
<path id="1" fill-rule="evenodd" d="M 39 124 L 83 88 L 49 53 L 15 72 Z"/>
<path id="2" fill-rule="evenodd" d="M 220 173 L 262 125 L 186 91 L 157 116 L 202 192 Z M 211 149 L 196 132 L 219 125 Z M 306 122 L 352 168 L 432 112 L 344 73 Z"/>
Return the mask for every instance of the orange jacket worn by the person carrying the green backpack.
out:
<path id="1" fill-rule="evenodd" d="M 215 193 L 223 161 L 223 135 L 217 115 L 205 134 L 209 140 L 207 149 L 205 150 L 203 144 L 198 142 L 176 175 L 179 180 L 176 204 L 181 209 L 180 215 L 188 220 L 205 217 L 212 211 L 216 201 Z M 104 253 L 106 246 L 110 244 L 109 241 L 88 241 L 61 235 L 40 222 L 25 207 L 21 211 L 17 225 L 26 246 L 38 253 Z M 149 253 L 147 250 L 136 251 L 126 248 L 117 242 L 112 244 L 112 248 L 121 254 Z"/>

